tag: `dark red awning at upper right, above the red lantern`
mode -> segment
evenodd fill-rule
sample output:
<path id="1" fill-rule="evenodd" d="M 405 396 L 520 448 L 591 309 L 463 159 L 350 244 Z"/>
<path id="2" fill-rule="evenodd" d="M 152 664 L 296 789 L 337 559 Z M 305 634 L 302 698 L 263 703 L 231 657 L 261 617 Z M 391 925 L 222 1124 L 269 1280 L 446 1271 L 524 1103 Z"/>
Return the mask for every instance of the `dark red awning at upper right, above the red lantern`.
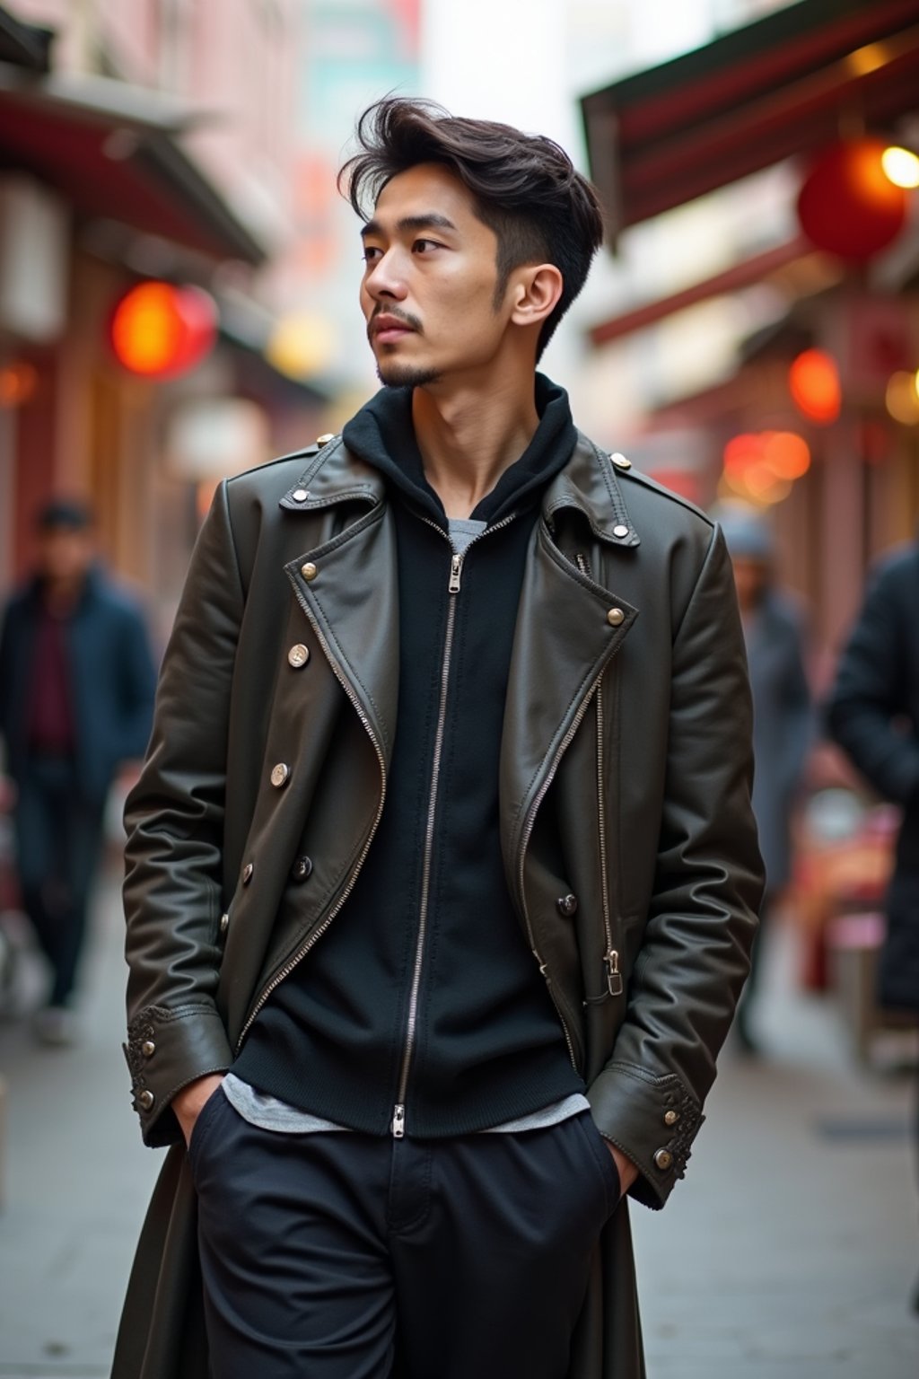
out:
<path id="1" fill-rule="evenodd" d="M 581 99 L 612 247 L 864 121 L 919 109 L 919 0 L 799 0 Z"/>

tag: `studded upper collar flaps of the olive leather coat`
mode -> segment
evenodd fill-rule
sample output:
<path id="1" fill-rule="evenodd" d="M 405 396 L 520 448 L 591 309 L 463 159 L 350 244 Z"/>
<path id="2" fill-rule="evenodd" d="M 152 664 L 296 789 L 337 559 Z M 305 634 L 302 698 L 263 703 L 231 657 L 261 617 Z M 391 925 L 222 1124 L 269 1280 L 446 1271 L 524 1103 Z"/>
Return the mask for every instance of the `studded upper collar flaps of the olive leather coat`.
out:
<path id="1" fill-rule="evenodd" d="M 353 455 L 340 436 L 318 450 L 310 447 L 300 454 L 306 463 L 296 483 L 281 498 L 281 507 L 314 512 L 342 502 L 366 502 L 371 506 L 383 502 L 383 476 Z M 564 507 L 580 512 L 601 541 L 613 546 L 639 545 L 641 538 L 628 516 L 613 461 L 580 432 L 572 458 L 543 494 L 543 517 L 550 528 Z"/>

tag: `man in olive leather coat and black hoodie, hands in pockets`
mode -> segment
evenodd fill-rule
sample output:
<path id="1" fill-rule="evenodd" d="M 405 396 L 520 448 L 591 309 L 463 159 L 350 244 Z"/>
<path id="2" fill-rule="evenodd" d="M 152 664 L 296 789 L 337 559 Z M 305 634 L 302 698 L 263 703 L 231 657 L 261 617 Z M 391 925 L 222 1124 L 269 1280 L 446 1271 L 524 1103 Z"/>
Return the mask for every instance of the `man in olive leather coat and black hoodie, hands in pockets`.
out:
<path id="1" fill-rule="evenodd" d="M 566 154 L 358 138 L 384 387 L 218 491 L 128 803 L 178 1147 L 114 1373 L 630 1379 L 620 1198 L 683 1174 L 761 889 L 730 565 L 535 374 L 601 241 Z"/>

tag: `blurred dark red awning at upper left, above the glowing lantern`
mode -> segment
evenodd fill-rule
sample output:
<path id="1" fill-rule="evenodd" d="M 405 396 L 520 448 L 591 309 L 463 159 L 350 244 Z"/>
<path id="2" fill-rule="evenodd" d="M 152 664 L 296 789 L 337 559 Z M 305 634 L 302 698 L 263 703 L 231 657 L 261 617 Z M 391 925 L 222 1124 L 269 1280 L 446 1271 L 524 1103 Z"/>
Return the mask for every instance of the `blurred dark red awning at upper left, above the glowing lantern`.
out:
<path id="1" fill-rule="evenodd" d="M 180 146 L 194 119 L 121 81 L 36 77 L 0 62 L 0 172 L 39 178 L 83 215 L 260 263 L 266 248 Z"/>

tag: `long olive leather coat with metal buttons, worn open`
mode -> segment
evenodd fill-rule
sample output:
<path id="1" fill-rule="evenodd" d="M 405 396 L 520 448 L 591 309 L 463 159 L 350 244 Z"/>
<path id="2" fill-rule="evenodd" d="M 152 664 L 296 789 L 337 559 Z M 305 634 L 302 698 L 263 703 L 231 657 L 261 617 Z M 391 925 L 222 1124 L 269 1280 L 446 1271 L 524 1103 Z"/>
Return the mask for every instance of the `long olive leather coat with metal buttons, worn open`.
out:
<path id="1" fill-rule="evenodd" d="M 114 1379 L 205 1379 L 196 1200 L 169 1102 L 226 1069 L 273 987 L 347 924 L 395 729 L 395 558 L 383 480 L 339 439 L 223 483 L 201 531 L 127 808 L 127 1056 L 143 1138 L 172 1147 Z M 762 885 L 750 779 L 721 532 L 580 437 L 526 560 L 502 847 L 594 1118 L 650 1207 L 683 1176 L 748 969 Z M 577 906 L 559 906 L 569 895 Z M 623 1201 L 569 1379 L 643 1373 Z"/>

